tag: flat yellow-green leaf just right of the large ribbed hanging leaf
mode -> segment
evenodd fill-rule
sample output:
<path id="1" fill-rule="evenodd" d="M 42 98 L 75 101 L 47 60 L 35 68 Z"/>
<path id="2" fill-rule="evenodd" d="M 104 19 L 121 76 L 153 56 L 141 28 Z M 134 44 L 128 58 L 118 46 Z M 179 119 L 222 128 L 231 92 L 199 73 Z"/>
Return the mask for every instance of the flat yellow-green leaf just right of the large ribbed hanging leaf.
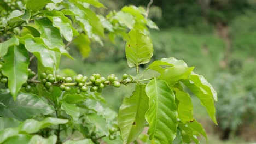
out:
<path id="1" fill-rule="evenodd" d="M 191 121 L 193 119 L 193 104 L 190 95 L 179 90 L 178 88 L 173 90 L 175 91 L 176 98 L 179 100 L 178 118 L 183 123 Z"/>

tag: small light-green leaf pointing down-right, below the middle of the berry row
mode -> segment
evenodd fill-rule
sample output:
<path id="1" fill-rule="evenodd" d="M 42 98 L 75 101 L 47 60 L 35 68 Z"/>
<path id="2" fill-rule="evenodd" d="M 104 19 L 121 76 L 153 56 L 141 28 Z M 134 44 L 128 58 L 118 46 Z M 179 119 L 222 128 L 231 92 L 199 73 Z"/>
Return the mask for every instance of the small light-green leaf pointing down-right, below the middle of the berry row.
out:
<path id="1" fill-rule="evenodd" d="M 61 103 L 61 109 L 70 115 L 75 121 L 77 121 L 80 115 L 79 107 L 77 107 L 75 104 L 68 104 L 65 101 L 62 101 Z"/>

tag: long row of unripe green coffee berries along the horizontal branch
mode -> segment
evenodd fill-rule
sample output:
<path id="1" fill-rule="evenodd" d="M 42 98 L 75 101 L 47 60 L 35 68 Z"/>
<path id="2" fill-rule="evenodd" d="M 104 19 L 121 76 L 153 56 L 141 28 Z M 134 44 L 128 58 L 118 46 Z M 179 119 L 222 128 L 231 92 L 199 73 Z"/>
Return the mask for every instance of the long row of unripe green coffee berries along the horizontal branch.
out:
<path id="1" fill-rule="evenodd" d="M 77 86 L 77 93 L 88 91 L 88 86 L 90 87 L 91 92 L 101 93 L 102 89 L 107 85 L 113 85 L 114 87 L 120 87 L 121 83 L 127 84 L 131 82 L 130 79 L 127 79 L 128 75 L 124 74 L 123 79 L 121 81 L 118 80 L 118 77 L 115 77 L 114 74 L 111 74 L 107 77 L 107 79 L 100 74 L 92 74 L 92 76 L 88 77 L 83 76 L 81 74 L 75 76 L 74 82 L 72 77 L 64 77 L 60 75 L 56 75 L 56 79 L 53 74 L 42 73 L 40 75 L 41 82 L 44 85 L 44 89 L 48 92 L 53 91 L 52 86 L 59 86 L 61 91 L 69 92 L 71 91 L 70 86 Z"/>

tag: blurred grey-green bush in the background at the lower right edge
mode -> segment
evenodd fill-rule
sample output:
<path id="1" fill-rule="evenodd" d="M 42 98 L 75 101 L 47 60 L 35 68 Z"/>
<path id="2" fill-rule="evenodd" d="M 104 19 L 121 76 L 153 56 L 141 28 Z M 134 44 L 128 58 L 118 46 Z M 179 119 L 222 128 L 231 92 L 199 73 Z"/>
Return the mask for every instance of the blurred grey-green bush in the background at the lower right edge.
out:
<path id="1" fill-rule="evenodd" d="M 245 85 L 241 83 L 243 83 L 241 75 L 228 73 L 219 73 L 214 80 L 220 101 L 216 109 L 217 121 L 220 129 L 230 131 L 228 136 L 234 135 L 243 122 L 252 122 L 256 114 L 255 90 L 247 91 Z M 220 105 L 223 105 L 221 109 Z M 234 109 L 236 111 L 233 111 Z"/>

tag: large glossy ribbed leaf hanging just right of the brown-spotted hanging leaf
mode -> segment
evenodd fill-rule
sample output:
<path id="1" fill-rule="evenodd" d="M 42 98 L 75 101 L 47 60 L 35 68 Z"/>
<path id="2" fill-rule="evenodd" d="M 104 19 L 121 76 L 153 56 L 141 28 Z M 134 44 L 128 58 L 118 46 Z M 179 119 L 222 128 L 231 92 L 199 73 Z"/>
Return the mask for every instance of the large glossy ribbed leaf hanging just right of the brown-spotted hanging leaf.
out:
<path id="1" fill-rule="evenodd" d="M 149 139 L 152 143 L 172 143 L 177 131 L 177 106 L 172 89 L 164 80 L 153 79 L 146 86 L 149 110 Z"/>

